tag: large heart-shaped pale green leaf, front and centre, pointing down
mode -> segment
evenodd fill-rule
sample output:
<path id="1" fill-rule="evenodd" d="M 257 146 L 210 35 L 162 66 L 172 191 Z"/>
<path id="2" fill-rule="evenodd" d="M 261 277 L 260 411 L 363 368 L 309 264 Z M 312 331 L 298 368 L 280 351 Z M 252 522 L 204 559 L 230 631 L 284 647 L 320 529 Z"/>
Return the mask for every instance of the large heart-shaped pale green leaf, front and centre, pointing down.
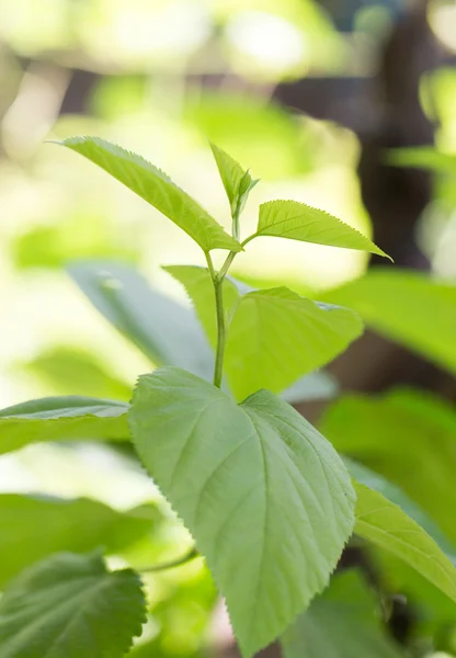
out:
<path id="1" fill-rule="evenodd" d="M 352 531 L 346 469 L 267 390 L 240 406 L 175 367 L 139 378 L 136 449 L 193 534 L 244 656 L 272 642 L 328 582 Z"/>

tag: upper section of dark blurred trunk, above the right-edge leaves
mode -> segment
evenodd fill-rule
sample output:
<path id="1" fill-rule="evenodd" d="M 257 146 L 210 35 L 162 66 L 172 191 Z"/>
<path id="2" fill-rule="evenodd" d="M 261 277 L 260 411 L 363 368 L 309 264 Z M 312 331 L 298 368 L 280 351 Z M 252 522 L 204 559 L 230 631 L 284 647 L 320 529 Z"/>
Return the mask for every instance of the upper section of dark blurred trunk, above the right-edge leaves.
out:
<path id="1" fill-rule="evenodd" d="M 420 2 L 399 21 L 387 41 L 375 97 L 373 128 L 361 128 L 358 166 L 364 204 L 372 217 L 375 241 L 396 265 L 426 268 L 414 241 L 414 228 L 431 201 L 432 179 L 426 171 L 385 164 L 385 151 L 434 143 L 434 126 L 420 103 L 423 73 L 438 64 L 438 49 Z M 385 263 L 374 257 L 372 264 Z"/>

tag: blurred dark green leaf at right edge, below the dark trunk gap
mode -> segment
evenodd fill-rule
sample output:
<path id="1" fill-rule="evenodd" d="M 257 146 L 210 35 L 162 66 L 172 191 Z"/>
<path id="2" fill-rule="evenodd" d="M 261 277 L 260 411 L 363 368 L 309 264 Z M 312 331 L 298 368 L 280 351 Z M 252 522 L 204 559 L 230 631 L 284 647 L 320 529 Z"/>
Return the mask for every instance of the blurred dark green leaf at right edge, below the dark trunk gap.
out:
<path id="1" fill-rule="evenodd" d="M 334 447 L 398 485 L 456 543 L 456 411 L 431 394 L 349 395 L 320 429 Z"/>

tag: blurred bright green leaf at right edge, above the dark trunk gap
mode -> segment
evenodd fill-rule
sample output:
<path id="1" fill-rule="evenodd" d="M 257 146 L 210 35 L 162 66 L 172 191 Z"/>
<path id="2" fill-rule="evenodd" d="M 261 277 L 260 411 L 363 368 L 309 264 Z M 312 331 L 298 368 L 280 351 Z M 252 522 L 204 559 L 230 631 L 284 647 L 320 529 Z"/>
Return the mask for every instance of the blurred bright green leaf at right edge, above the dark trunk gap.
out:
<path id="1" fill-rule="evenodd" d="M 456 373 L 456 285 L 378 268 L 323 298 L 354 308 L 379 333 Z"/>

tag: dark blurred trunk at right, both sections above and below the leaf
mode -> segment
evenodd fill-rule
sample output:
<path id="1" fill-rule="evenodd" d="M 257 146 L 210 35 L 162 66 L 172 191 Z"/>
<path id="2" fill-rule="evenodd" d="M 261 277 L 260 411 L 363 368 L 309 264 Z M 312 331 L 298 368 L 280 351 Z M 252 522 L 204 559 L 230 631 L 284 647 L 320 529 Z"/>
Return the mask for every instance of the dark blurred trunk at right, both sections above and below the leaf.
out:
<path id="1" fill-rule="evenodd" d="M 385 44 L 372 106 L 371 128 L 358 132 L 361 192 L 377 245 L 389 253 L 395 268 L 428 270 L 429 262 L 415 242 L 417 223 L 432 198 L 432 174 L 418 169 L 389 167 L 388 148 L 432 145 L 434 129 L 420 103 L 423 75 L 436 68 L 441 52 L 426 20 L 428 2 L 420 1 L 401 20 Z M 372 264 L 391 266 L 374 256 Z M 378 392 L 411 384 L 454 397 L 454 379 L 408 350 L 367 332 L 331 367 L 342 386 Z"/>

